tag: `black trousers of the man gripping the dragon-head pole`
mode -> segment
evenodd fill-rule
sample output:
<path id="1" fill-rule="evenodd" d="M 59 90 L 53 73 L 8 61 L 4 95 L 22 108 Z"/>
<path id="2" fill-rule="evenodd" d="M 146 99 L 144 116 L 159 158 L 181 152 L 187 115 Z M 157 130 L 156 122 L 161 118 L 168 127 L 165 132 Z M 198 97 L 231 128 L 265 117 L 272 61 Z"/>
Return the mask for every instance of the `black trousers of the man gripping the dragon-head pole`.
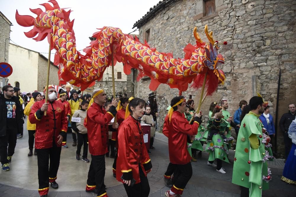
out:
<path id="1" fill-rule="evenodd" d="M 191 162 L 184 165 L 177 164 L 177 169 L 176 169 L 176 172 L 174 173 L 174 178 L 173 178 L 174 186 L 176 188 L 184 189 L 191 177 L 192 177 Z M 173 191 L 173 188 L 175 187 L 172 187 L 171 190 Z M 173 192 L 181 195 L 182 191 L 180 189 L 176 192 L 174 190 Z"/>

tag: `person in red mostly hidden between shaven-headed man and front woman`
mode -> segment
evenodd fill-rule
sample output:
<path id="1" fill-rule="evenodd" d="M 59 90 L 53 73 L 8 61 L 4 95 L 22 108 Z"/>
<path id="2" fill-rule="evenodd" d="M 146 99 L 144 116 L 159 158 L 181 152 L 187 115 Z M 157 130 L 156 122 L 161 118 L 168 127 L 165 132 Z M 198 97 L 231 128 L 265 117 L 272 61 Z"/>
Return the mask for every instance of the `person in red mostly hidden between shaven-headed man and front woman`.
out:
<path id="1" fill-rule="evenodd" d="M 126 116 L 126 106 L 128 105 L 128 98 L 127 97 L 121 97 L 119 99 L 119 102 L 118 102 L 118 105 L 117 106 L 117 115 L 116 115 L 116 118 L 117 118 L 117 123 L 118 125 L 120 126 L 120 124 L 124 121 L 124 118 Z M 117 153 L 118 153 L 118 141 L 117 141 L 117 136 L 118 136 L 118 131 L 116 132 L 112 132 L 112 141 L 116 141 L 116 154 L 115 154 L 115 157 L 114 157 L 114 162 L 113 162 L 113 165 L 112 165 L 112 170 L 113 170 L 113 177 L 116 178 L 116 160 L 117 160 Z"/>

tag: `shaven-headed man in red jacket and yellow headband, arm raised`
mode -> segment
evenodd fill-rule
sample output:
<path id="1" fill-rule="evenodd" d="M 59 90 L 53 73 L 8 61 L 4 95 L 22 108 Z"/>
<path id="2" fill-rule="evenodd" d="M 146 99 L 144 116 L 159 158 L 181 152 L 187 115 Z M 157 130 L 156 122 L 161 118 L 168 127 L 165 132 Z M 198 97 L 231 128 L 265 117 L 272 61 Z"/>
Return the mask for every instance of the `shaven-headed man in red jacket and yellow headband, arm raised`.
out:
<path id="1" fill-rule="evenodd" d="M 107 102 L 104 90 L 94 90 L 92 100 L 93 103 L 90 103 L 84 120 L 89 140 L 89 153 L 91 154 L 86 192 L 96 193 L 99 197 L 107 197 L 104 177 L 106 169 L 105 154 L 108 152 L 108 130 L 118 128 L 118 123 L 112 124 L 112 128 L 109 129 L 108 124 L 117 113 L 117 101 L 113 99 L 110 109 L 106 112 L 103 107 Z"/>

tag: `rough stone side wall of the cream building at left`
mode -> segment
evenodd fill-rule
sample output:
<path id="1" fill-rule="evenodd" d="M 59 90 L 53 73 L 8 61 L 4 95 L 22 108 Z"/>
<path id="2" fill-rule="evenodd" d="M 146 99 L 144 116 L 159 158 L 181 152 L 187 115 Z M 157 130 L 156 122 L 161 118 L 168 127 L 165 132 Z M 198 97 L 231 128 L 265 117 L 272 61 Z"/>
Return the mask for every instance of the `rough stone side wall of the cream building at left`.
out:
<path id="1" fill-rule="evenodd" d="M 46 86 L 47 80 L 47 58 L 43 55 L 38 55 L 38 83 L 37 83 L 37 90 L 38 92 L 43 92 L 44 87 Z M 54 66 L 54 64 L 50 63 L 49 68 L 49 83 L 53 85 L 59 85 L 59 76 L 57 74 L 59 68 Z"/>

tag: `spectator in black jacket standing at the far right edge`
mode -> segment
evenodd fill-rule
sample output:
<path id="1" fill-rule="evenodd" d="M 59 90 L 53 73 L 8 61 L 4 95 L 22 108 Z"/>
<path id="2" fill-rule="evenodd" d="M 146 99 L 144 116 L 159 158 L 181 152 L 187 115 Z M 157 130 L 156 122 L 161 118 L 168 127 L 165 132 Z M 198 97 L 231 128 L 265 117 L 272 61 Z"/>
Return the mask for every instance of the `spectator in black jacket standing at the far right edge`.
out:
<path id="1" fill-rule="evenodd" d="M 293 120 L 295 120 L 296 113 L 295 113 L 295 104 L 289 104 L 288 106 L 289 112 L 284 113 L 281 116 L 281 120 L 279 121 L 279 127 L 281 128 L 281 131 L 284 132 L 284 143 L 285 143 L 285 158 L 287 159 L 291 146 L 292 146 L 292 140 L 288 136 L 288 130 L 289 126 L 292 123 Z M 286 162 L 286 160 L 285 160 Z"/>

